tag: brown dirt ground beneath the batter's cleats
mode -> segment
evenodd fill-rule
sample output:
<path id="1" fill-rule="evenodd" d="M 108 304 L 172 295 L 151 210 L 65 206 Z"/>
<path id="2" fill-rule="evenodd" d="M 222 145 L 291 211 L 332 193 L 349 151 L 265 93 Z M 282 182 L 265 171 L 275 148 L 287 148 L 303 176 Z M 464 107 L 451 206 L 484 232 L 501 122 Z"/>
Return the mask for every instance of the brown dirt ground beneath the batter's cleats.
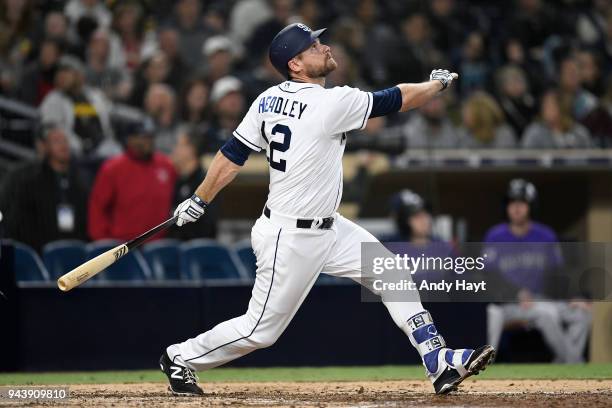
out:
<path id="1" fill-rule="evenodd" d="M 400 407 L 612 406 L 612 380 L 467 380 L 448 396 L 426 381 L 209 383 L 202 398 L 172 397 L 163 383 L 70 386 L 70 399 L 19 406 Z M 0 401 L 0 406 L 15 406 Z"/>

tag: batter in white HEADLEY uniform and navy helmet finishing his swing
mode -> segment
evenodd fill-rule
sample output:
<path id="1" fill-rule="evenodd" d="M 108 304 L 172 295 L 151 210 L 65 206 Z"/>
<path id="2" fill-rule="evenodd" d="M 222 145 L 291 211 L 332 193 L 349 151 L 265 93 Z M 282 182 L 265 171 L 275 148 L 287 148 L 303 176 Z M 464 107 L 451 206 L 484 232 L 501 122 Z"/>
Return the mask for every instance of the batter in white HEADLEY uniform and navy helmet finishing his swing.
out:
<path id="1" fill-rule="evenodd" d="M 195 194 L 174 213 L 178 226 L 197 221 L 249 153 L 266 151 L 270 192 L 251 233 L 257 276 L 248 310 L 167 347 L 160 365 L 175 395 L 202 395 L 196 371 L 274 344 L 320 273 L 361 281 L 361 243 L 378 240 L 336 212 L 346 132 L 362 129 L 368 118 L 419 107 L 458 77 L 436 69 L 427 82 L 377 92 L 326 89 L 325 77 L 337 63 L 330 47 L 319 40 L 325 30 L 292 24 L 276 35 L 270 60 L 287 81 L 255 99 Z M 455 390 L 493 360 L 491 346 L 447 348 L 420 301 L 384 304 L 419 352 L 436 393 Z"/>

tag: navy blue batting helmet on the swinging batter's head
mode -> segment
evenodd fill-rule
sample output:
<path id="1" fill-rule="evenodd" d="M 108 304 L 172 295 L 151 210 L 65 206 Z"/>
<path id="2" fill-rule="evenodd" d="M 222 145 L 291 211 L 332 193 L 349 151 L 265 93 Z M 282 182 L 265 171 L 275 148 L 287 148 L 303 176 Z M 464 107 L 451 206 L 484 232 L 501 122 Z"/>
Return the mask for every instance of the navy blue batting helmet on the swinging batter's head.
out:
<path id="1" fill-rule="evenodd" d="M 302 23 L 288 25 L 279 31 L 270 44 L 270 61 L 274 68 L 286 78 L 289 78 L 289 61 L 310 47 L 317 38 L 327 30 L 322 28 L 312 31 L 310 27 Z"/>

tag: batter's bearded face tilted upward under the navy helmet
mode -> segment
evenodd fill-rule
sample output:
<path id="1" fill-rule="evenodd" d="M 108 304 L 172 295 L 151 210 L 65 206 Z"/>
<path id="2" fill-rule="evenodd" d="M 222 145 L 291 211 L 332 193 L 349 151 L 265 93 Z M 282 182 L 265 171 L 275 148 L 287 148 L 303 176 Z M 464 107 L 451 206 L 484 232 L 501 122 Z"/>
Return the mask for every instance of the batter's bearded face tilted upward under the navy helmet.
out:
<path id="1" fill-rule="evenodd" d="M 331 48 L 317 39 L 310 47 L 289 61 L 289 71 L 293 78 L 325 78 L 338 67 Z"/>

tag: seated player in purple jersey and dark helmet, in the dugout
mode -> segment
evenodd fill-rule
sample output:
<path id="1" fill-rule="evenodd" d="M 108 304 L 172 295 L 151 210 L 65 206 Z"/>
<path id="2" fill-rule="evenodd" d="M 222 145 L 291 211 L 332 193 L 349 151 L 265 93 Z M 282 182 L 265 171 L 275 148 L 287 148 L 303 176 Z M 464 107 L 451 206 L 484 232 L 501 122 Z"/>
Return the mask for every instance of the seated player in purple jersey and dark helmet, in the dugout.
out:
<path id="1" fill-rule="evenodd" d="M 551 284 L 548 273 L 558 268 L 562 259 L 553 230 L 532 220 L 536 200 L 532 183 L 512 180 L 506 194 L 508 222 L 492 227 L 484 239 L 483 253 L 489 255 L 487 275 L 497 273 L 503 283 L 496 287 L 514 293 L 518 301 L 488 305 L 488 343 L 497 348 L 507 325 L 526 324 L 540 331 L 554 362 L 583 362 L 591 313 L 584 302 L 544 301 L 546 287 Z"/>

